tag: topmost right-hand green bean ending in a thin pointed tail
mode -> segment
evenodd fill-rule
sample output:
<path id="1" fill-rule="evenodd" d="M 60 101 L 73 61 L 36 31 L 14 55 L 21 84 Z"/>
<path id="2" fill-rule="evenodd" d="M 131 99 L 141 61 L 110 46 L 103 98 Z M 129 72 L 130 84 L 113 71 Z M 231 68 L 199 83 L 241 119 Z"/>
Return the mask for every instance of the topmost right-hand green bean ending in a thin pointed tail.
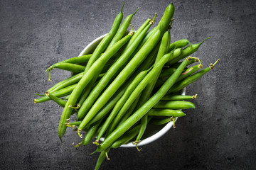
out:
<path id="1" fill-rule="evenodd" d="M 205 40 L 207 40 L 208 38 L 206 38 Z M 200 42 L 199 44 L 193 44 L 190 45 L 188 47 L 186 47 L 184 50 L 182 50 L 181 55 L 179 55 L 178 57 L 176 57 L 174 60 L 171 60 L 170 62 L 168 62 L 168 65 L 172 65 L 175 64 L 176 62 L 178 62 L 179 60 L 188 57 L 188 55 L 191 55 L 192 53 L 196 52 L 198 50 L 198 48 L 200 47 L 200 45 L 203 44 L 203 42 L 205 42 L 205 40 L 203 40 L 202 42 Z"/>

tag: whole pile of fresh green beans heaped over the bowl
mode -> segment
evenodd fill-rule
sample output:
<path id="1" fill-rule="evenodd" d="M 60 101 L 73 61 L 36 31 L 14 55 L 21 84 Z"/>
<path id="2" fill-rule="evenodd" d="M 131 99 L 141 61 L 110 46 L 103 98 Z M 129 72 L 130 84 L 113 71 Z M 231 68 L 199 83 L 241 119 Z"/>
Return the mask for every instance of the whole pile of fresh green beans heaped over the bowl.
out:
<path id="1" fill-rule="evenodd" d="M 101 154 L 95 169 L 100 168 L 110 148 L 127 142 L 137 147 L 147 125 L 173 121 L 175 128 L 175 119 L 186 115 L 181 110 L 195 108 L 193 103 L 184 100 L 197 96 L 183 96 L 181 90 L 218 62 L 202 69 L 201 60 L 190 57 L 205 40 L 192 45 L 186 39 L 171 43 L 173 4 L 167 6 L 156 27 L 149 31 L 155 14 L 135 33 L 133 30 L 127 33 L 127 29 L 137 11 L 122 22 L 123 7 L 110 32 L 92 54 L 48 67 L 49 80 L 50 71 L 55 68 L 68 70 L 73 76 L 58 82 L 46 94 L 38 94 L 41 98 L 34 99 L 34 103 L 52 100 L 64 108 L 58 127 L 61 142 L 67 127 L 72 127 L 82 138 L 73 147 L 90 142 L 97 145 L 95 152 Z M 199 64 L 190 66 L 195 62 Z M 76 121 L 70 120 L 71 115 Z M 102 137 L 105 140 L 100 143 Z"/>

